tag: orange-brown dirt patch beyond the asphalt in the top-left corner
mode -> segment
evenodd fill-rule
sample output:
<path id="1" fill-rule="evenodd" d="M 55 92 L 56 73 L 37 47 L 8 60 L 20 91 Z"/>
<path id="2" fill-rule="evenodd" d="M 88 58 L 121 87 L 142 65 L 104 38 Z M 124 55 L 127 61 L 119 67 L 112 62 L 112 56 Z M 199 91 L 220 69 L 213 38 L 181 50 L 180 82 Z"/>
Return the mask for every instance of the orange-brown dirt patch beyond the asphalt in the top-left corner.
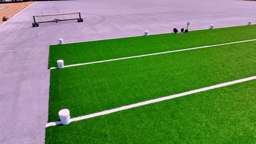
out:
<path id="1" fill-rule="evenodd" d="M 28 7 L 28 5 L 33 2 L 23 2 L 23 3 L 1 3 L 0 4 L 0 25 L 4 22 L 3 17 L 13 17 L 15 14 L 19 13 L 22 9 Z"/>

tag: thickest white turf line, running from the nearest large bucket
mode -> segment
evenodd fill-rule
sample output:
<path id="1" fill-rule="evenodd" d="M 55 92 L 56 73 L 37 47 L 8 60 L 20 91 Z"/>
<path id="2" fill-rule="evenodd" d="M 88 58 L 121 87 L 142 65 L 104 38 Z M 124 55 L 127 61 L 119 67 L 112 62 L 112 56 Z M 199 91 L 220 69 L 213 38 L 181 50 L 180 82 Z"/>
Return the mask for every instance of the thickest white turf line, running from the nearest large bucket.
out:
<path id="1" fill-rule="evenodd" d="M 107 114 L 109 114 L 109 113 L 114 113 L 114 112 L 118 112 L 118 111 L 123 111 L 123 110 L 127 110 L 127 109 L 132 109 L 133 107 L 138 107 L 138 106 L 143 106 L 143 105 L 158 103 L 158 102 L 164 101 L 164 100 L 169 100 L 169 99 L 173 99 L 173 98 L 178 98 L 178 97 L 182 97 L 182 96 L 189 95 L 189 94 L 204 92 L 204 91 L 208 91 L 208 90 L 210 90 L 210 89 L 225 87 L 225 86 L 229 86 L 229 85 L 234 85 L 234 84 L 236 84 L 236 83 L 241 83 L 241 82 L 245 82 L 245 81 L 251 81 L 251 80 L 255 80 L 255 79 L 256 79 L 256 76 L 247 77 L 247 78 L 245 78 L 245 79 L 240 79 L 240 80 L 235 80 L 235 81 L 220 83 L 220 84 L 218 84 L 218 85 L 213 85 L 213 86 L 205 87 L 205 88 L 199 88 L 199 89 L 195 89 L 195 90 L 193 90 L 193 91 L 188 91 L 188 92 L 179 93 L 179 94 L 173 94 L 173 95 L 169 95 L 169 96 L 167 96 L 167 97 L 162 97 L 162 98 L 147 100 L 147 101 L 143 101 L 143 102 L 136 103 L 136 104 L 121 106 L 121 107 L 118 107 L 118 108 L 115 108 L 115 109 L 111 109 L 111 110 L 106 110 L 106 111 L 101 111 L 101 112 L 92 113 L 92 114 L 90 114 L 90 115 L 75 117 L 75 118 L 71 118 L 70 120 L 71 120 L 71 122 L 80 121 L 80 120 L 83 120 L 83 119 L 88 119 L 88 118 L 92 118 L 92 117 L 107 115 Z M 46 124 L 45 127 L 47 128 L 47 127 L 51 127 L 51 126 L 55 126 L 55 125 L 60 125 L 60 124 L 61 124 L 60 121 L 51 122 L 51 123 Z"/>

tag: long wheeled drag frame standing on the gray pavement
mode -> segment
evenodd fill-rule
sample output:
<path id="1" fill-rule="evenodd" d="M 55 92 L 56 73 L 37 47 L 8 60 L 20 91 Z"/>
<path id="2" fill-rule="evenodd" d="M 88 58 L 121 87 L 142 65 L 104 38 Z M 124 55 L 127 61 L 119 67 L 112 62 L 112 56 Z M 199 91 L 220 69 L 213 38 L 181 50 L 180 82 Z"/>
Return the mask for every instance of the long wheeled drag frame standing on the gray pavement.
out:
<path id="1" fill-rule="evenodd" d="M 65 14 L 51 14 L 51 15 L 33 15 L 34 22 L 32 23 L 33 27 L 38 27 L 39 23 L 57 23 L 59 21 L 71 21 L 77 20 L 77 22 L 83 22 L 81 18 L 81 13 L 65 13 Z"/>

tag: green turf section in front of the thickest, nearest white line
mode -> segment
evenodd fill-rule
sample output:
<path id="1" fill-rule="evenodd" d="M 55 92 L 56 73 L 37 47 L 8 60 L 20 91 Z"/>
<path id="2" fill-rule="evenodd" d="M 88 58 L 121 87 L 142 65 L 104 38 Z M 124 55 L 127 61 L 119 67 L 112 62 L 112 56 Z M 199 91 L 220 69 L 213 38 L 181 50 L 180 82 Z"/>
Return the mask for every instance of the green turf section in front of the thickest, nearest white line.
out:
<path id="1" fill-rule="evenodd" d="M 49 127 L 45 143 L 255 143 L 255 87 L 247 81 Z"/>

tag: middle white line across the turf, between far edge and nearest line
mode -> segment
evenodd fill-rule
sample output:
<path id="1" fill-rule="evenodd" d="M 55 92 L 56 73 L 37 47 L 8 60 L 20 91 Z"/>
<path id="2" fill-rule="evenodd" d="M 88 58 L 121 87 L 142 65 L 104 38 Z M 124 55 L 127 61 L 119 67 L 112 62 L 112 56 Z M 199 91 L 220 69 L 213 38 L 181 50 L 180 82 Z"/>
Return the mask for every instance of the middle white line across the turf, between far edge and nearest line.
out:
<path id="1" fill-rule="evenodd" d="M 189 49 L 182 49 L 182 50 L 174 50 L 174 51 L 165 51 L 165 52 L 158 52 L 158 53 L 150 53 L 146 55 L 139 55 L 139 56 L 131 56 L 131 57 L 123 57 L 123 58 L 115 58 L 115 59 L 108 59 L 108 60 L 103 60 L 103 61 L 96 61 L 96 62 L 89 62 L 89 63 L 79 63 L 79 64 L 71 64 L 71 65 L 65 65 L 63 68 L 68 68 L 68 67 L 76 67 L 80 65 L 88 65 L 88 64 L 95 64 L 95 63 L 103 63 L 103 62 L 111 62 L 111 61 L 119 61 L 123 59 L 130 59 L 130 58 L 137 58 L 137 57 L 147 57 L 147 56 L 154 56 L 154 55 L 162 55 L 165 53 L 172 53 L 172 52 L 180 52 L 180 51 L 189 51 L 189 50 L 196 50 L 196 49 L 204 49 L 208 47 L 214 47 L 214 46 L 222 46 L 222 45 L 230 45 L 230 44 L 237 44 L 237 43 L 245 43 L 248 41 L 255 41 L 256 39 L 251 39 L 251 40 L 243 40 L 243 41 L 236 41 L 232 43 L 225 43 L 225 44 L 218 44 L 218 45 L 208 45 L 208 46 L 200 46 L 200 47 L 193 47 Z M 52 67 L 50 69 L 58 69 L 58 67 Z"/>

